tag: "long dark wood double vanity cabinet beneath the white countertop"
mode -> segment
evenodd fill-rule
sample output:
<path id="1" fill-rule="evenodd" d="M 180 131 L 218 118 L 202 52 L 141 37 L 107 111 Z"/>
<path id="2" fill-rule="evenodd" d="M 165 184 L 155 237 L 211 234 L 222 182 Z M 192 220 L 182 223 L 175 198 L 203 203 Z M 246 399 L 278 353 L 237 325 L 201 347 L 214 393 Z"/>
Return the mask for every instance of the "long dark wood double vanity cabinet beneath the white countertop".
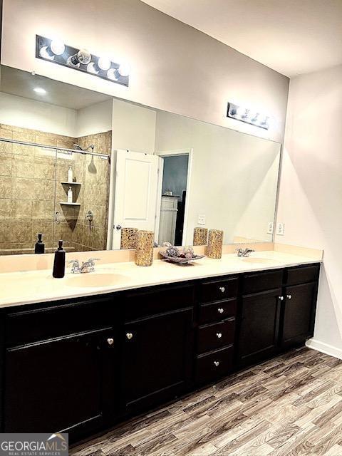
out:
<path id="1" fill-rule="evenodd" d="M 304 344 L 319 269 L 250 267 L 1 307 L 1 432 L 75 441 Z"/>

